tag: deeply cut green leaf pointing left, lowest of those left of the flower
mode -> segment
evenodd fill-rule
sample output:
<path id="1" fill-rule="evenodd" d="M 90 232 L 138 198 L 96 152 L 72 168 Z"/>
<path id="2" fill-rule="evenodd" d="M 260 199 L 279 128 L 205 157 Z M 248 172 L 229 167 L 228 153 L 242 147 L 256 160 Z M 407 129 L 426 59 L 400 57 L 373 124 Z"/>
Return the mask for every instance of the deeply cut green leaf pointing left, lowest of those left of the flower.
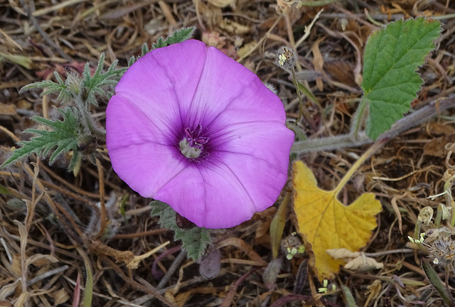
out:
<path id="1" fill-rule="evenodd" d="M 13 155 L 0 167 L 7 166 L 9 163 L 30 154 L 46 156 L 50 151 L 53 151 L 53 154 L 51 154 L 49 158 L 50 164 L 52 164 L 60 154 L 68 151 L 73 151 L 73 158 L 71 159 L 70 164 L 75 164 L 79 157 L 77 136 L 80 128 L 77 121 L 77 110 L 68 107 L 66 109 L 58 109 L 58 111 L 63 115 L 63 121 L 51 121 L 49 119 L 44 119 L 43 117 L 33 117 L 32 119 L 35 122 L 38 122 L 38 124 L 43 124 L 53 130 L 26 129 L 24 133 L 32 133 L 36 134 L 36 136 L 33 136 L 30 141 L 19 142 L 22 147 L 15 149 Z M 70 168 L 70 171 L 73 171 L 73 169 Z"/>

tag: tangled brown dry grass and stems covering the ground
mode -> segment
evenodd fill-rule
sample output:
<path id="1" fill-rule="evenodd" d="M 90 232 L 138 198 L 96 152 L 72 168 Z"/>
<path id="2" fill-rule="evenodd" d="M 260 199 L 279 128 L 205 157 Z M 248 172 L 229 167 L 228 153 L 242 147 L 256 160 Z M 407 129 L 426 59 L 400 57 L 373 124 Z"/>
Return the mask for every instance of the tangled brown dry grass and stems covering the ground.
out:
<path id="1" fill-rule="evenodd" d="M 274 50 L 297 46 L 296 75 L 323 109 L 306 104 L 310 120 L 301 127 L 311 136 L 348 130 L 361 95 L 363 46 L 380 23 L 422 14 L 446 16 L 441 19 L 445 25 L 439 49 L 421 70 L 425 84 L 413 107 L 454 92 L 453 1 L 304 1 L 299 7 L 292 2 L 0 0 L 0 162 L 16 141 L 29 137 L 21 131 L 33 126 L 33 115 L 58 117 L 55 97 L 18 95 L 18 89 L 50 80 L 53 70 L 81 72 L 85 63 L 95 65 L 103 52 L 106 65 L 117 58 L 127 65 L 142 44 L 184 26 L 196 26 L 196 38 L 277 87 L 291 118 L 298 114 L 295 88 L 289 73 L 273 62 Z M 302 41 L 305 26 L 321 9 Z M 105 121 L 105 106 L 102 102 L 97 109 L 100 123 Z M 78 306 L 87 267 L 93 278 L 92 306 L 346 306 L 343 285 L 358 306 L 441 306 L 420 266 L 424 254 L 396 250 L 409 244 L 407 235 L 414 231 L 419 209 L 437 207 L 437 200 L 427 197 L 441 193 L 444 172 L 454 167 L 449 152 L 455 143 L 452 113 L 397 136 L 345 188 L 345 200 L 370 191 L 382 203 L 373 243 L 365 252 L 379 253 L 384 268 L 362 273 L 342 269 L 332 281 L 336 291 L 323 297 L 305 254 L 287 260 L 282 252 L 284 264 L 276 281 L 264 283 L 264 268 L 272 261 L 269 227 L 276 206 L 215 234 L 212 249 L 220 251 L 221 270 L 207 279 L 200 276 L 198 264 L 178 254 L 172 234 L 150 217 L 149 200 L 117 178 L 105 151 L 99 156 L 102 171 L 85 162 L 77 176 L 65 171 L 68 156 L 52 167 L 31 158 L 1 169 L 0 306 Z M 333 188 L 363 151 L 294 158 L 306 161 L 321 187 Z M 100 225 L 102 205 L 109 225 Z M 293 211 L 287 210 L 284 237 L 296 230 Z M 444 276 L 444 271 L 439 273 Z M 455 284 L 453 275 L 449 284 Z"/>

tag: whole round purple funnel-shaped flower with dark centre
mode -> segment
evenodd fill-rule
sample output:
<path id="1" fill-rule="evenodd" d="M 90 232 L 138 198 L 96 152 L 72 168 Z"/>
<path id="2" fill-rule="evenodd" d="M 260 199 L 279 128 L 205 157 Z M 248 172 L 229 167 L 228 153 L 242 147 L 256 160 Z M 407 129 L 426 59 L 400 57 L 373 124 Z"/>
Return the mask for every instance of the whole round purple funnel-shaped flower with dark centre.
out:
<path id="1" fill-rule="evenodd" d="M 199 227 L 239 225 L 273 205 L 294 134 L 280 99 L 200 41 L 137 60 L 106 110 L 114 171 Z"/>

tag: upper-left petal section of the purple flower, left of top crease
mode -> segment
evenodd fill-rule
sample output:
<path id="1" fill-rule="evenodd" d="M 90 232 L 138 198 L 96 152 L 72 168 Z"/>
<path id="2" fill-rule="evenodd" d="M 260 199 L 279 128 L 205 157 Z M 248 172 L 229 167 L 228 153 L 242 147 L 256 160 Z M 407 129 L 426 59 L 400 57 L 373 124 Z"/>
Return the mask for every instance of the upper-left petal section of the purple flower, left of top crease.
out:
<path id="1" fill-rule="evenodd" d="M 206 52 L 205 44 L 198 41 L 153 50 L 124 73 L 116 95 L 132 102 L 163 133 L 179 136 L 186 128 L 182 126 L 185 106 L 193 100 Z"/>

